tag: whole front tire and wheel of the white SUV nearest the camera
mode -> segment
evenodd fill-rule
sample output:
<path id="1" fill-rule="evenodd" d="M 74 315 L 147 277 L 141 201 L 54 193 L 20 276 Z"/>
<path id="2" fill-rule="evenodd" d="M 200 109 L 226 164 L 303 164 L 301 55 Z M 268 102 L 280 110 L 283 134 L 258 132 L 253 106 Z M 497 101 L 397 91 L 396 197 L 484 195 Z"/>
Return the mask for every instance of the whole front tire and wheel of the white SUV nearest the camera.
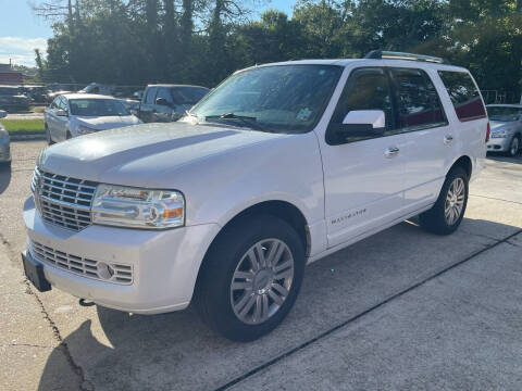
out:
<path id="1" fill-rule="evenodd" d="M 196 303 L 212 329 L 233 341 L 252 341 L 283 321 L 303 272 L 303 243 L 291 226 L 270 215 L 244 217 L 209 250 Z"/>

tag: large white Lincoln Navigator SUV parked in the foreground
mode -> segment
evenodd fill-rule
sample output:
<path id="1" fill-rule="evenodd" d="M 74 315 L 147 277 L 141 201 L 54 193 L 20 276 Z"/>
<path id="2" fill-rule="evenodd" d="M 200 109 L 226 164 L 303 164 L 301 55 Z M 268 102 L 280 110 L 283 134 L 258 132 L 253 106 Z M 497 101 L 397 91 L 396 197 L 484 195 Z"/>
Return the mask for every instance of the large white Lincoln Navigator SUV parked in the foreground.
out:
<path id="1" fill-rule="evenodd" d="M 304 265 L 420 215 L 451 234 L 486 154 L 470 73 L 372 52 L 236 72 L 181 122 L 38 159 L 26 275 L 138 314 L 185 308 L 232 340 L 274 329 Z"/>

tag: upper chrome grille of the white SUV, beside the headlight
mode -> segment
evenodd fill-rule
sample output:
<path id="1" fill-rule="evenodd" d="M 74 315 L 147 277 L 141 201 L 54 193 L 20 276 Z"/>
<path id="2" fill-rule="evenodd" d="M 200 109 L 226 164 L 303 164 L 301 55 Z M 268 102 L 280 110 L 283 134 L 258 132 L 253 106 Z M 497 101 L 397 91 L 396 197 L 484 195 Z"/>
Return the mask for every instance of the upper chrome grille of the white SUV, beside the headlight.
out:
<path id="1" fill-rule="evenodd" d="M 96 182 L 35 168 L 32 190 L 44 220 L 79 231 L 91 224 Z"/>

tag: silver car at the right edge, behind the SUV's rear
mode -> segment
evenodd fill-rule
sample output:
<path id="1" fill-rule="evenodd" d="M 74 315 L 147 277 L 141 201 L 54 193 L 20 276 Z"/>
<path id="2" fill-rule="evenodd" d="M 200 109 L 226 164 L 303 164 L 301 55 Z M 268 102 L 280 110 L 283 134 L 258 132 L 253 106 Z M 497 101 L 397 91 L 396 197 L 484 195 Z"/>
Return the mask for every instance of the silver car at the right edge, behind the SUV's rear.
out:
<path id="1" fill-rule="evenodd" d="M 522 147 L 522 104 L 489 104 L 486 108 L 492 125 L 487 151 L 517 156 Z"/>

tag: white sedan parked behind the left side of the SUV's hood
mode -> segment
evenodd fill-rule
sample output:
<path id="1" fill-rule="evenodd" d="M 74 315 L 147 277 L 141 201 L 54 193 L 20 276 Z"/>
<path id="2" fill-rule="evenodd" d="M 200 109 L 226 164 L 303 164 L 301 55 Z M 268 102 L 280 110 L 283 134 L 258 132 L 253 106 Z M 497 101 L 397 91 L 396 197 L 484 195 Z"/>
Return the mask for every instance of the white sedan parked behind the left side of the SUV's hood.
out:
<path id="1" fill-rule="evenodd" d="M 119 99 L 87 93 L 58 96 L 46 110 L 45 116 L 49 144 L 72 137 L 138 124 L 141 124 L 141 121 L 130 114 Z"/>

